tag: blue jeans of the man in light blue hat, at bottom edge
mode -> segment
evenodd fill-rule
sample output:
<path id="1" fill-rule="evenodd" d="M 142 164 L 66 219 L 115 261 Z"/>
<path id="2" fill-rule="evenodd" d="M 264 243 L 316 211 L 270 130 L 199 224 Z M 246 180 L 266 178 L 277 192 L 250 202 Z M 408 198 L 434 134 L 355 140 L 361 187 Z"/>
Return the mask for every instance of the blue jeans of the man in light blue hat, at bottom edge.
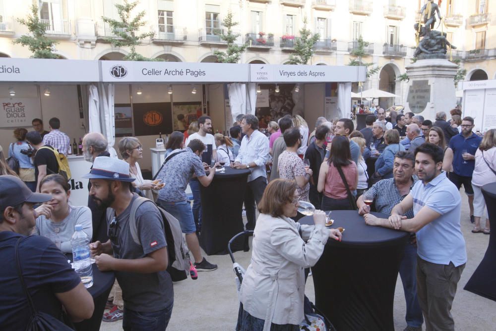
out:
<path id="1" fill-rule="evenodd" d="M 165 331 L 172 315 L 171 303 L 169 307 L 156 312 L 137 312 L 127 309 L 124 304 L 124 331 Z"/>

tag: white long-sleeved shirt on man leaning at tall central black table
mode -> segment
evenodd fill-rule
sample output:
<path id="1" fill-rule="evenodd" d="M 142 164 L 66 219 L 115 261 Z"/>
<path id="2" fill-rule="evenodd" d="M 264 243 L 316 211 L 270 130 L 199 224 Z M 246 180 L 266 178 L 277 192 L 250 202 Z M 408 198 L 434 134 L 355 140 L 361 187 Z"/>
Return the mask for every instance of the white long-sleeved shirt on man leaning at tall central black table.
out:
<path id="1" fill-rule="evenodd" d="M 258 177 L 267 177 L 265 172 L 265 163 L 269 158 L 269 140 L 258 130 L 253 131 L 251 137 L 246 135 L 241 141 L 240 152 L 236 157 L 236 161 L 241 164 L 254 162 L 256 167 L 250 168 L 251 175 L 248 176 L 248 182 L 251 182 Z"/>

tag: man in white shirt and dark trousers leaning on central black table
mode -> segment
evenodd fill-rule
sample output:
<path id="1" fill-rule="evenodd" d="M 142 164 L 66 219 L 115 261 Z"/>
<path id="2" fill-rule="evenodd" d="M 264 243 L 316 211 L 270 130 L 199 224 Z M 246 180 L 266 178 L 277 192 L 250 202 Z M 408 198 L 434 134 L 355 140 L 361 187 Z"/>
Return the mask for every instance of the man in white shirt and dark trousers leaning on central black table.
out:
<path id="1" fill-rule="evenodd" d="M 262 198 L 263 191 L 267 186 L 267 173 L 265 163 L 269 158 L 269 140 L 258 131 L 258 118 L 254 115 L 246 115 L 241 128 L 246 135 L 241 141 L 238 156 L 231 165 L 236 169 L 249 169 L 248 187 L 245 192 L 245 209 L 247 211 L 247 230 L 255 228 L 255 208 Z"/>

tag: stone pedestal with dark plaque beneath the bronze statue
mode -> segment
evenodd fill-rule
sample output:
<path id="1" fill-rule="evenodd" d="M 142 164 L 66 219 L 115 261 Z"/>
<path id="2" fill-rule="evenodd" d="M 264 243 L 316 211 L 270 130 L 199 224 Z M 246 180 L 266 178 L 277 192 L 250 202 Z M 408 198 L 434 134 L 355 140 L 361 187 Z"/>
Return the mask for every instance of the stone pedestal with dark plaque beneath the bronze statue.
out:
<path id="1" fill-rule="evenodd" d="M 405 67 L 408 82 L 404 112 L 412 111 L 434 122 L 435 114 L 456 106 L 454 77 L 458 66 L 446 59 L 423 59 Z"/>

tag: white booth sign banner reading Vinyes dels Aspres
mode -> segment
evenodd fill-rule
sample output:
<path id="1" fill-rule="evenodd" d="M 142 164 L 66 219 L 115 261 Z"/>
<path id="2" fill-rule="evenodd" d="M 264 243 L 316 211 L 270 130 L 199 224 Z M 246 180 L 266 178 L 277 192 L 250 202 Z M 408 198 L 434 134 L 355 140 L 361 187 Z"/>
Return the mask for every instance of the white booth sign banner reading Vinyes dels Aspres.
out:
<path id="1" fill-rule="evenodd" d="M 349 65 L 250 64 L 249 67 L 249 81 L 253 83 L 363 82 L 366 80 L 366 67 Z"/>

